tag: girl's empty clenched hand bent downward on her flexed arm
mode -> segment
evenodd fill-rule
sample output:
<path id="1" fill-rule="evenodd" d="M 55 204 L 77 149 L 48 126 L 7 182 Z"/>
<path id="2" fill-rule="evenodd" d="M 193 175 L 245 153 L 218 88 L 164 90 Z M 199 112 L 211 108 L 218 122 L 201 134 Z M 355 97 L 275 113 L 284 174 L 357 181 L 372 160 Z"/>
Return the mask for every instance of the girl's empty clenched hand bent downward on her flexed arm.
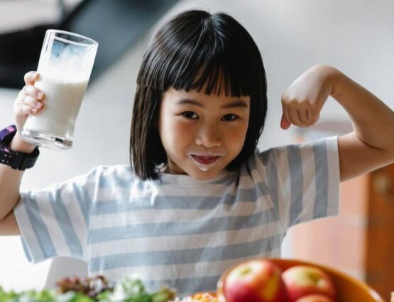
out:
<path id="1" fill-rule="evenodd" d="M 291 124 L 305 128 L 319 120 L 320 111 L 332 92 L 329 69 L 316 65 L 292 82 L 282 94 L 283 116 L 280 127 L 288 129 Z"/>

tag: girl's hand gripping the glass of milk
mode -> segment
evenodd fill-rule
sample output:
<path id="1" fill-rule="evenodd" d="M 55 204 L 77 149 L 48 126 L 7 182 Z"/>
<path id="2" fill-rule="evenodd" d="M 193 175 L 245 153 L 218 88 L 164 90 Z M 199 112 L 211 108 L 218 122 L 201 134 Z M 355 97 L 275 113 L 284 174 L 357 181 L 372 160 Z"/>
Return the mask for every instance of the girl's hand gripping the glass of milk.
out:
<path id="1" fill-rule="evenodd" d="M 45 94 L 34 86 L 35 81 L 40 78 L 38 72 L 28 72 L 24 80 L 26 85 L 19 91 L 13 103 L 13 114 L 15 118 L 16 129 L 19 133 L 26 122 L 29 114 L 37 114 L 43 107 Z"/>

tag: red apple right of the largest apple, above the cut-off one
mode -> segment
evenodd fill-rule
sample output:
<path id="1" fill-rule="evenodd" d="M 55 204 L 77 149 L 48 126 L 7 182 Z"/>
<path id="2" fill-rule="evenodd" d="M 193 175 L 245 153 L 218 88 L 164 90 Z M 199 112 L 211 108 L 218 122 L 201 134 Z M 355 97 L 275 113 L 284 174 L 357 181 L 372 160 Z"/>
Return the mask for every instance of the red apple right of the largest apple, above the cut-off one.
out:
<path id="1" fill-rule="evenodd" d="M 318 293 L 335 300 L 335 289 L 329 276 L 308 265 L 297 265 L 286 269 L 282 274 L 290 301 L 297 301 L 302 296 Z"/>

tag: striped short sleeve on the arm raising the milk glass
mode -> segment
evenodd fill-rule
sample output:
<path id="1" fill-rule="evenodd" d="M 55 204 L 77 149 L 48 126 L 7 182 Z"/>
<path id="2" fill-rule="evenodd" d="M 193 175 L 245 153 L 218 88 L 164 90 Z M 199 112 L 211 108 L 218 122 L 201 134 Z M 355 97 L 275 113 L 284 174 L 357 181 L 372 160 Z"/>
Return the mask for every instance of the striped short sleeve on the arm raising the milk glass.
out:
<path id="1" fill-rule="evenodd" d="M 14 213 L 30 262 L 61 256 L 86 259 L 96 174 L 93 169 L 43 190 L 21 192 Z"/>

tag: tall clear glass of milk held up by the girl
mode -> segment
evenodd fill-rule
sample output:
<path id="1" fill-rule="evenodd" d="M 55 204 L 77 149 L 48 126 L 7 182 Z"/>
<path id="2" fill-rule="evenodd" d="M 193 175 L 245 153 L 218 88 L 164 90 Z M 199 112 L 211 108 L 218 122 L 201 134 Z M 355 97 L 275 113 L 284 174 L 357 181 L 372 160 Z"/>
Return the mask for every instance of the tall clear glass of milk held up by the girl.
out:
<path id="1" fill-rule="evenodd" d="M 65 150 L 72 147 L 75 121 L 92 72 L 98 43 L 83 35 L 47 30 L 35 82 L 45 93 L 43 109 L 28 116 L 21 132 L 33 145 Z"/>

